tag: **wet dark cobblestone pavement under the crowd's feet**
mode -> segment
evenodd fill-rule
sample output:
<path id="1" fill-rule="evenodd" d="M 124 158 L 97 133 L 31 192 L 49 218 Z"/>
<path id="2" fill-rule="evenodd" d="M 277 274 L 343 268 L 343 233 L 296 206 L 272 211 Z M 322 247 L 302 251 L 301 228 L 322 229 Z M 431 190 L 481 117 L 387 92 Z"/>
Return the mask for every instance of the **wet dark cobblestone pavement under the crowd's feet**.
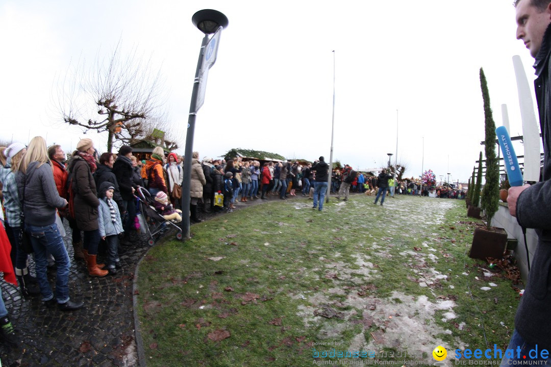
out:
<path id="1" fill-rule="evenodd" d="M 288 199 L 304 198 L 300 193 Z M 280 200 L 278 195 L 268 200 L 255 199 L 236 202 L 236 209 Z M 201 213 L 209 219 L 225 213 Z M 73 260 L 71 228 L 67 225 L 64 237 L 71 258 L 69 295 L 74 301 L 83 301 L 84 307 L 73 312 L 62 312 L 47 307 L 41 297 L 23 298 L 19 289 L 5 281 L 0 282 L 2 297 L 9 317 L 15 326 L 21 344 L 17 348 L 0 343 L 2 366 L 137 366 L 138 344 L 134 333 L 133 279 L 136 266 L 150 249 L 147 235 L 140 235 L 133 246 L 123 247 L 120 254 L 122 270 L 116 275 L 101 278 L 88 276 L 84 260 Z M 192 227 L 193 228 L 193 227 Z M 165 238 L 173 238 L 169 231 Z M 102 256 L 98 256 L 99 261 Z M 33 261 L 30 264 L 34 275 Z M 55 270 L 48 269 L 53 288 Z"/>

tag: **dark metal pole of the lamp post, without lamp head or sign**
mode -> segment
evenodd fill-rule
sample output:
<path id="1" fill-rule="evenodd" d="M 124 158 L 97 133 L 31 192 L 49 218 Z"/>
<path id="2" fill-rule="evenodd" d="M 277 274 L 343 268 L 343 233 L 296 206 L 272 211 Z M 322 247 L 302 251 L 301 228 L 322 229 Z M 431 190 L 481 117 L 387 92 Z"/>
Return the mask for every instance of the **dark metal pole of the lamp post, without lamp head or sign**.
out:
<path id="1" fill-rule="evenodd" d="M 186 150 L 183 161 L 183 182 L 182 182 L 182 238 L 190 238 L 190 188 L 191 188 L 191 160 L 193 155 L 193 133 L 195 132 L 195 118 L 197 116 L 197 95 L 199 94 L 199 76 L 203 67 L 203 53 L 207 46 L 209 37 L 205 34 L 199 51 L 199 60 L 195 70 L 195 79 L 193 80 L 193 90 L 191 92 L 190 116 L 187 119 Z"/>

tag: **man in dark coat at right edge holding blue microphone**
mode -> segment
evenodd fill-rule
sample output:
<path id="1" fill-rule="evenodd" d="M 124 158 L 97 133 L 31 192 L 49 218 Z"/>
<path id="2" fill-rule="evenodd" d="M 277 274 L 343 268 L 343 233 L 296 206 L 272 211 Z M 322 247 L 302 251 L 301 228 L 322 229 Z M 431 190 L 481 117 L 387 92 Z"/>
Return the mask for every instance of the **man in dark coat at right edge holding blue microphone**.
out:
<path id="1" fill-rule="evenodd" d="M 543 182 L 532 186 L 524 185 L 509 189 L 507 203 L 509 212 L 517 218 L 518 224 L 534 228 L 538 245 L 533 256 L 528 283 L 515 316 L 515 331 L 508 349 L 522 348 L 518 358 L 507 358 L 501 365 L 531 360 L 551 363 L 543 353 L 533 358 L 529 350 L 551 349 L 551 0 L 516 0 L 516 37 L 522 40 L 532 57 L 538 78 L 534 81 L 539 110 L 539 124 L 543 138 Z M 515 353 L 517 357 L 517 353 Z M 526 358 L 526 357 L 525 357 Z"/>

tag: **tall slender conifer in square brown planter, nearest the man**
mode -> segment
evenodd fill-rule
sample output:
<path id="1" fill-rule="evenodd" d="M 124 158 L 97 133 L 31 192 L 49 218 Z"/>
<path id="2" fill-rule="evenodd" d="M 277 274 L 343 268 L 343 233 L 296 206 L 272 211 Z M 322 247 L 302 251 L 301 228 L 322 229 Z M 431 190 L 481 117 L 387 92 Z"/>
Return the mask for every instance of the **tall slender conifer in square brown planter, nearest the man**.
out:
<path id="1" fill-rule="evenodd" d="M 491 227 L 491 219 L 498 211 L 499 202 L 499 160 L 495 154 L 495 123 L 490 108 L 488 85 L 482 68 L 480 68 L 480 88 L 484 100 L 484 152 L 486 156 L 486 182 L 482 192 L 482 207 L 486 215 L 486 226 L 474 230 L 473 244 L 469 256 L 474 259 L 501 259 L 507 244 L 507 232 L 503 228 Z M 482 152 L 480 152 L 482 162 Z M 479 166 L 480 167 L 480 166 Z M 482 169 L 479 168 L 480 176 Z M 478 184 L 478 182 L 477 182 Z"/>

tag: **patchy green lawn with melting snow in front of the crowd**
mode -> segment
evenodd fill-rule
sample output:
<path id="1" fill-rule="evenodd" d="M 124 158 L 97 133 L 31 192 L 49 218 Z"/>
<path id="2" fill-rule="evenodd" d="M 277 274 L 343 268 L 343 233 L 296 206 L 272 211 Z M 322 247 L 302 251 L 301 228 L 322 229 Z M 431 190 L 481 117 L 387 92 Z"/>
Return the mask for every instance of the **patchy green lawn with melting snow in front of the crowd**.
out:
<path id="1" fill-rule="evenodd" d="M 504 349 L 518 293 L 466 255 L 464 201 L 373 199 L 267 202 L 156 245 L 138 273 L 148 366 L 431 365 L 439 345 L 452 365 L 457 348 Z M 368 357 L 322 357 L 355 350 Z"/>

